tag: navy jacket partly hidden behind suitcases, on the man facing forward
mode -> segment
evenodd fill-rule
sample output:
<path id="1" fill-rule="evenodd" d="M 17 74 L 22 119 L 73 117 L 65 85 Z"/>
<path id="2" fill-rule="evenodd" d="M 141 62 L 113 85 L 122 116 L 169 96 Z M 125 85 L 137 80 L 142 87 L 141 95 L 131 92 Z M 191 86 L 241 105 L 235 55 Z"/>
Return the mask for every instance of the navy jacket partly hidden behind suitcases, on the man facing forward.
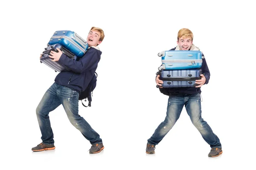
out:
<path id="1" fill-rule="evenodd" d="M 170 50 L 175 50 L 170 49 Z M 204 54 L 202 55 L 204 56 Z M 208 84 L 209 79 L 210 79 L 210 71 L 208 69 L 206 60 L 204 57 L 202 57 L 203 63 L 201 66 L 202 69 L 202 74 L 205 74 L 205 84 Z M 199 84 L 198 84 L 199 85 Z M 160 92 L 165 94 L 165 95 L 170 95 L 171 93 L 181 93 L 181 94 L 196 94 L 196 93 L 201 93 L 201 88 L 200 87 L 173 87 L 173 88 L 159 88 Z"/>

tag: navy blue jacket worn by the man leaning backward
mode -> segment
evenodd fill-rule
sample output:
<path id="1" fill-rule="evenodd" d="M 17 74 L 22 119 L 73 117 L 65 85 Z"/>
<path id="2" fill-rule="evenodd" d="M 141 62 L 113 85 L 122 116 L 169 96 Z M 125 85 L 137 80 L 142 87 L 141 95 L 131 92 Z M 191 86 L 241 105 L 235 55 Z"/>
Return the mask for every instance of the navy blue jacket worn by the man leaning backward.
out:
<path id="1" fill-rule="evenodd" d="M 93 78 L 101 54 L 101 51 L 93 47 L 89 48 L 79 61 L 75 61 L 62 54 L 58 63 L 71 71 L 60 72 L 55 78 L 55 83 L 69 87 L 81 94 Z"/>

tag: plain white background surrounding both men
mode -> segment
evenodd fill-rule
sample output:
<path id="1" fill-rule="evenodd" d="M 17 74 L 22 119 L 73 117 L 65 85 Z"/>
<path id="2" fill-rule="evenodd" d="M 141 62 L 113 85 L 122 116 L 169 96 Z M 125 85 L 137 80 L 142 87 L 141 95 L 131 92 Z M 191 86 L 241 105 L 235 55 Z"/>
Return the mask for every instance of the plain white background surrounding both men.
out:
<path id="1" fill-rule="evenodd" d="M 0 6 L 0 169 L 254 169 L 255 8 L 252 1 L 44 0 Z M 105 149 L 73 127 L 63 107 L 50 113 L 55 150 L 31 151 L 41 142 L 35 109 L 58 74 L 40 63 L 49 38 L 72 30 L 84 39 L 91 26 L 105 39 L 99 48 L 92 107 L 79 114 L 100 134 Z M 223 154 L 208 158 L 209 145 L 183 109 L 172 130 L 145 153 L 147 139 L 164 120 L 168 97 L 155 87 L 158 52 L 174 48 L 189 28 L 211 72 L 202 90 L 202 117 L 221 140 Z"/>

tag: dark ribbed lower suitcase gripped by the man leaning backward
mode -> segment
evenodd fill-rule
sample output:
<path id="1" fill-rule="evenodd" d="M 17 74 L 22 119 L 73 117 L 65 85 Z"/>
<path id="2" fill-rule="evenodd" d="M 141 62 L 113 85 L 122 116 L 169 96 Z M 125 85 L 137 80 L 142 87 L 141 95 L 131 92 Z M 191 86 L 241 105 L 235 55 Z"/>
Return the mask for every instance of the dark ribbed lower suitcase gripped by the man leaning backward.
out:
<path id="1" fill-rule="evenodd" d="M 45 48 L 45 50 L 42 54 L 42 57 L 40 58 L 40 62 L 44 63 L 47 66 L 49 66 L 50 68 L 54 69 L 55 72 L 62 72 L 64 70 L 70 71 L 69 69 L 66 69 L 64 66 L 59 64 L 58 61 L 52 61 L 52 58 L 49 58 L 49 53 L 51 51 L 58 52 L 58 50 L 56 48 L 59 48 L 63 54 L 67 55 L 67 57 L 72 58 L 73 60 L 77 61 L 79 59 L 76 55 L 74 55 L 69 50 L 65 49 L 60 44 L 54 44 L 52 46 L 48 46 L 47 48 Z"/>

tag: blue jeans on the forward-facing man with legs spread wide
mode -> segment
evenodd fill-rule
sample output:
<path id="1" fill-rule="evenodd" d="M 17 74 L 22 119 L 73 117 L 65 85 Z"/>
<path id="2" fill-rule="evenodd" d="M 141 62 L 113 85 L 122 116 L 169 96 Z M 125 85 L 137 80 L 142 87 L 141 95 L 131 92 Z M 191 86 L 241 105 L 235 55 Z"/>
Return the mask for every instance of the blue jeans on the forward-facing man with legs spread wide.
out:
<path id="1" fill-rule="evenodd" d="M 201 117 L 201 97 L 200 94 L 171 94 L 168 99 L 168 106 L 165 120 L 157 127 L 151 138 L 148 139 L 149 144 L 157 145 L 162 141 L 163 137 L 172 129 L 176 121 L 180 117 L 180 113 L 185 105 L 186 111 L 193 125 L 201 133 L 204 140 L 210 147 L 221 147 L 221 143 L 217 135 L 212 132 L 206 121 Z"/>

